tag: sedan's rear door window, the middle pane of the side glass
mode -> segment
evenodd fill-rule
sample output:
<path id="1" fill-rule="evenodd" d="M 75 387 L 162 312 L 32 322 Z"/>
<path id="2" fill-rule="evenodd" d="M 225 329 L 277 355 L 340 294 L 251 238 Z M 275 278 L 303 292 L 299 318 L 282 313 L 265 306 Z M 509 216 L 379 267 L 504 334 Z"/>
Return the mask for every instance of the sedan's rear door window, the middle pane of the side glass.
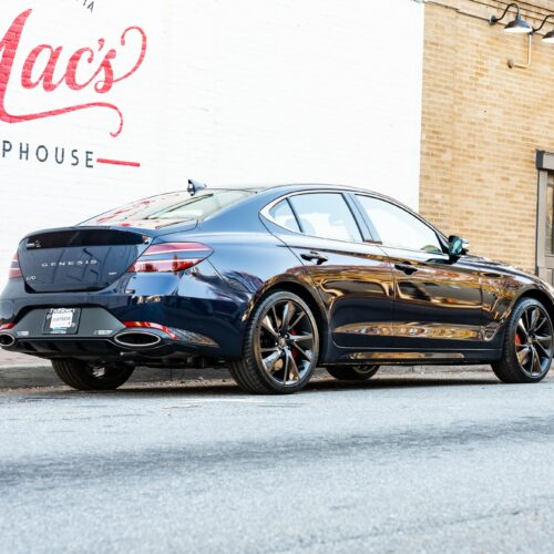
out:
<path id="1" fill-rule="evenodd" d="M 289 199 L 302 233 L 336 240 L 361 242 L 356 219 L 341 194 L 299 194 Z"/>

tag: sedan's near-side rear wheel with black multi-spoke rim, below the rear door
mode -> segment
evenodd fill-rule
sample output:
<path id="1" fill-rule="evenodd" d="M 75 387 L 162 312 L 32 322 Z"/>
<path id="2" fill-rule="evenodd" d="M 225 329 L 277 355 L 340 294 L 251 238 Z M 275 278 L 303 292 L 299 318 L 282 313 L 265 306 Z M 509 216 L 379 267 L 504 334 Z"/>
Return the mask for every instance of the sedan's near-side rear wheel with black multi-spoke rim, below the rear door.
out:
<path id="1" fill-rule="evenodd" d="M 245 331 L 243 358 L 230 362 L 230 375 L 256 394 L 297 392 L 310 380 L 319 356 L 319 334 L 308 305 L 285 290 L 264 298 Z"/>

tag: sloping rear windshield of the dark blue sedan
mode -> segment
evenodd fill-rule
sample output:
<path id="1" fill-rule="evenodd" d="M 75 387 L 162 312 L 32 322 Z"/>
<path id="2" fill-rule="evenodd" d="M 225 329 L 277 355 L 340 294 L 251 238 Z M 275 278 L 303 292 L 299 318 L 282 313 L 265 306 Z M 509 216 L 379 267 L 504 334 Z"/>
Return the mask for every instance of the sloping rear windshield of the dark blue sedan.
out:
<path id="1" fill-rule="evenodd" d="M 252 191 L 202 191 L 161 194 L 143 198 L 95 216 L 80 225 L 137 225 L 156 227 L 191 219 L 204 219 L 255 194 Z"/>

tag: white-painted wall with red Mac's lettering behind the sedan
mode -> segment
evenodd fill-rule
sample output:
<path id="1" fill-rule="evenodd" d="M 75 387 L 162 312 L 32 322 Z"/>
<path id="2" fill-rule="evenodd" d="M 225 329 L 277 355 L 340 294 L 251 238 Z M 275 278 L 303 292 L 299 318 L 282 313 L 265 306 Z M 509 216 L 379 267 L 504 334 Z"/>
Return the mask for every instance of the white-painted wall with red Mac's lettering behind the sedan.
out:
<path id="1" fill-rule="evenodd" d="M 90 3 L 91 0 L 86 0 Z M 23 115 L 91 102 L 115 104 L 28 122 L 0 121 L 0 275 L 28 232 L 71 225 L 129 199 L 211 184 L 325 182 L 388 193 L 418 204 L 423 6 L 411 0 L 4 0 L 0 40 L 32 8 L 3 107 Z M 138 70 L 99 94 L 24 89 L 21 74 L 38 44 L 62 47 L 54 82 L 72 53 L 117 47 L 114 73 Z M 6 47 L 6 45 L 4 45 Z M 7 66 L 7 49 L 0 63 Z M 2 55 L 3 53 L 3 55 Z M 44 52 L 43 52 L 44 54 Z M 42 55 L 43 55 L 42 54 Z M 37 79 L 48 57 L 38 59 Z M 99 62 L 82 61 L 84 82 Z M 0 68 L 0 86 L 2 83 Z M 6 81 L 6 78 L 3 78 Z M 1 90 L 1 88 L 0 88 Z M 2 106 L 0 106 L 2 107 Z M 2 156 L 3 141 L 12 151 Z M 30 160 L 20 160 L 20 143 Z M 45 145 L 93 154 L 92 168 L 32 152 Z M 43 154 L 43 151 L 41 151 Z M 69 156 L 69 152 L 65 153 Z M 138 162 L 103 165 L 99 157 Z M 1 277 L 0 277 L 1 280 Z"/>

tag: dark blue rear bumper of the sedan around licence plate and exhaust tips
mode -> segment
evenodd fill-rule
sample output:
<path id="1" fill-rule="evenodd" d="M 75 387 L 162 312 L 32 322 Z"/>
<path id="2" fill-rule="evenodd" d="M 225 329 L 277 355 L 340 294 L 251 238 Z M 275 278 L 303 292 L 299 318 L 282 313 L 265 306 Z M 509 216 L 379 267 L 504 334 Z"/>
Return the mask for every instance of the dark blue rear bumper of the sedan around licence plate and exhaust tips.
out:
<path id="1" fill-rule="evenodd" d="M 16 338 L 10 351 L 43 358 L 131 358 L 135 351 L 141 359 L 186 355 L 236 358 L 242 351 L 243 316 L 249 300 L 250 295 L 230 288 L 208 260 L 179 276 L 125 274 L 100 291 L 31 294 L 23 279 L 11 279 L 0 296 L 0 327 L 13 327 L 0 332 Z M 81 308 L 78 332 L 45 335 L 49 308 Z M 157 324 L 173 329 L 176 338 L 158 329 L 133 329 L 158 336 L 160 341 L 132 348 L 116 340 L 126 321 Z"/>

